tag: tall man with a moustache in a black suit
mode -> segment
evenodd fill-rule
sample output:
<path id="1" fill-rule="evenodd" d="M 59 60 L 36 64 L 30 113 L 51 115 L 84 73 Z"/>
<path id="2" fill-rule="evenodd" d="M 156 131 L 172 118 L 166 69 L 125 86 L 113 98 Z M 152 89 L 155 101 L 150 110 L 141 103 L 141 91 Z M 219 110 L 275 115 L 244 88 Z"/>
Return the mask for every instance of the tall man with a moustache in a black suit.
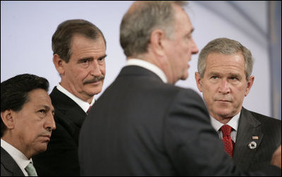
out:
<path id="1" fill-rule="evenodd" d="M 52 37 L 53 62 L 61 75 L 50 97 L 56 131 L 47 152 L 34 157 L 39 176 L 79 176 L 78 135 L 94 94 L 102 90 L 106 74 L 106 41 L 86 20 L 66 20 Z"/>

